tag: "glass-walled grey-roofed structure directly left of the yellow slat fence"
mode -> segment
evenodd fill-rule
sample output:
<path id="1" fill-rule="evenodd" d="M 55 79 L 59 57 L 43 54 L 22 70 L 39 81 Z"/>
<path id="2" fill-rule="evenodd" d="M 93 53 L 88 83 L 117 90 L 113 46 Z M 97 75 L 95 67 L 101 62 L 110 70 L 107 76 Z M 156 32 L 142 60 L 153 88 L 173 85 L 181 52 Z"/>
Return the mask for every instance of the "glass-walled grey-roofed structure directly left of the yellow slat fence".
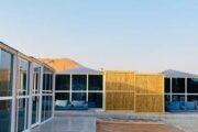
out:
<path id="1" fill-rule="evenodd" d="M 102 72 L 82 66 L 57 72 L 55 101 L 56 110 L 102 109 Z"/>

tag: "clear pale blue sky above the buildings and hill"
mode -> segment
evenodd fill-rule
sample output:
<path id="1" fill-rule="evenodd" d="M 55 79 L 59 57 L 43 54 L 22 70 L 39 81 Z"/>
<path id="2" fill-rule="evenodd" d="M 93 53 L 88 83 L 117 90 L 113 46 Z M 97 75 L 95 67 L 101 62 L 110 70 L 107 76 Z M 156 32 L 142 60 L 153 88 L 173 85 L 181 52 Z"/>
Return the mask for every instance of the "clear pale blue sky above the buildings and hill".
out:
<path id="1" fill-rule="evenodd" d="M 92 68 L 198 74 L 197 0 L 2 0 L 0 41 Z"/>

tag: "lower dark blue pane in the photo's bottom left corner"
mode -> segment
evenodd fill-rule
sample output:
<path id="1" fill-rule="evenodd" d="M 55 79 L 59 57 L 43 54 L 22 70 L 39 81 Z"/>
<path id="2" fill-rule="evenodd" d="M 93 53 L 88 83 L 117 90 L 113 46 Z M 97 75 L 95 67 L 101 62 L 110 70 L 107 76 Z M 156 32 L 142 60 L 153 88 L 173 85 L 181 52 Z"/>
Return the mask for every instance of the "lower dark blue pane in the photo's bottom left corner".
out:
<path id="1" fill-rule="evenodd" d="M 10 132 L 11 130 L 11 101 L 0 100 L 0 132 Z"/>

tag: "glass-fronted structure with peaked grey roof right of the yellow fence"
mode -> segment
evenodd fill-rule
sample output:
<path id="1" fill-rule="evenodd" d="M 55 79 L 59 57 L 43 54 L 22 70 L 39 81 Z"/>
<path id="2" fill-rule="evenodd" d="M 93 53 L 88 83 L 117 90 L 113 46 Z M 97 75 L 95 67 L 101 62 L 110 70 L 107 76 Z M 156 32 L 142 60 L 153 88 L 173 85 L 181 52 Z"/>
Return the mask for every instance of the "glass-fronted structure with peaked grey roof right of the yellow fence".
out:
<path id="1" fill-rule="evenodd" d="M 198 75 L 165 70 L 166 111 L 198 111 Z"/>

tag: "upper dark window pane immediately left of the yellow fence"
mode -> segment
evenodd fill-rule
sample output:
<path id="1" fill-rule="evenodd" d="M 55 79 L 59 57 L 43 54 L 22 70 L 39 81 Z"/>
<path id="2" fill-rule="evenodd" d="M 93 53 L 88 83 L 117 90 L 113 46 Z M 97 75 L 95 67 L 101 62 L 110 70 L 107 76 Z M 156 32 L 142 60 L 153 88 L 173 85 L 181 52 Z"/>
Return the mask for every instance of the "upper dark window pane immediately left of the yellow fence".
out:
<path id="1" fill-rule="evenodd" d="M 102 90 L 102 75 L 89 75 L 89 90 Z"/>

